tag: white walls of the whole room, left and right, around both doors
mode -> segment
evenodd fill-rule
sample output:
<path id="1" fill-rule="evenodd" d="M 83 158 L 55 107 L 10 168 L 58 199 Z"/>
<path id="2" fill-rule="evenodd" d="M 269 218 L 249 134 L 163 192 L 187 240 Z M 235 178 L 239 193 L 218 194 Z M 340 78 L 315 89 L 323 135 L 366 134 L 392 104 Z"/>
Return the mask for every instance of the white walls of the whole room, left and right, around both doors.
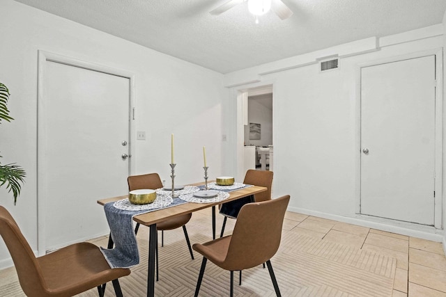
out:
<path id="1" fill-rule="evenodd" d="M 367 225 L 367 219 L 355 215 L 357 65 L 446 45 L 444 20 L 440 29 L 432 26 L 378 40 L 367 38 L 223 77 L 12 0 L 1 0 L 1 10 L 0 81 L 10 88 L 8 107 L 16 119 L 0 127 L 1 162 L 19 163 L 27 177 L 17 206 L 4 188 L 0 199 L 33 249 L 37 246 L 38 49 L 134 72 L 136 130 L 146 131 L 146 141 L 136 143 L 133 173 L 157 171 L 162 178 L 169 177 L 169 137 L 174 133 L 176 179 L 181 184 L 202 179 L 203 145 L 211 176 L 235 175 L 238 141 L 243 148 L 243 128 L 237 125 L 238 90 L 273 84 L 275 196 L 291 194 L 291 210 Z M 339 54 L 340 69 L 319 74 L 316 58 L 332 54 Z M 228 141 L 222 142 L 222 134 Z M 443 206 L 446 209 L 445 202 Z M 410 229 L 387 221 L 380 227 Z M 1 243 L 0 267 L 10 264 Z"/>

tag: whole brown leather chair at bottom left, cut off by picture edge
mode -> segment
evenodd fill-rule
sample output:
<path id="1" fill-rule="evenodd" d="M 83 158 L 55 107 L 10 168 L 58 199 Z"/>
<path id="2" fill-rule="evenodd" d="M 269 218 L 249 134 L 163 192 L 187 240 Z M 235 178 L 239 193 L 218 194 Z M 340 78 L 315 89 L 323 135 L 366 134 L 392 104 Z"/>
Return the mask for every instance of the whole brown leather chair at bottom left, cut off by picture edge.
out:
<path id="1" fill-rule="evenodd" d="M 43 257 L 33 253 L 10 213 L 0 207 L 0 234 L 5 241 L 26 296 L 74 296 L 113 282 L 116 296 L 123 296 L 118 278 L 130 269 L 110 268 L 99 248 L 92 243 L 75 243 Z"/>

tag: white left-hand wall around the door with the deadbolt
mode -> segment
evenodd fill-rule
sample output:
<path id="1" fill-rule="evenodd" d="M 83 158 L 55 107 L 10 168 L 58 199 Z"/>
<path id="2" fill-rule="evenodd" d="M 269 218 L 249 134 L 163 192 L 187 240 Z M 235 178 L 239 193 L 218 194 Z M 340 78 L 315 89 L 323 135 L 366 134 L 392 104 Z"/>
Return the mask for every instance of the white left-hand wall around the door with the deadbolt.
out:
<path id="1" fill-rule="evenodd" d="M 15 1 L 1 0 L 1 11 L 0 81 L 10 88 L 8 108 L 15 118 L 0 127 L 1 163 L 20 164 L 26 182 L 17 206 L 4 187 L 0 203 L 16 218 L 33 250 L 37 248 L 38 49 L 134 73 L 135 126 L 136 131 L 146 131 L 146 141 L 135 144 L 133 174 L 159 172 L 168 179 L 174 133 L 178 184 L 203 179 L 203 145 L 210 176 L 222 175 L 222 99 L 229 93 L 222 86 L 222 74 Z M 11 263 L 0 241 L 0 268 Z"/>

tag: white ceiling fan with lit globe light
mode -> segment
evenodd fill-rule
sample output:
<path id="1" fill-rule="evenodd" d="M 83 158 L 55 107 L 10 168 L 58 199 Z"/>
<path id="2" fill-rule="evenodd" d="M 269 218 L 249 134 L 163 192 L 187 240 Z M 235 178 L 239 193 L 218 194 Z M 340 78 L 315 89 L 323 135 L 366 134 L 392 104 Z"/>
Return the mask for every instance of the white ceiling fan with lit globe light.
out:
<path id="1" fill-rule="evenodd" d="M 238 4 L 241 4 L 246 1 L 248 2 L 249 12 L 255 15 L 256 17 L 268 13 L 268 10 L 270 9 L 272 9 L 272 11 L 274 11 L 274 13 L 282 20 L 287 19 L 291 17 L 291 15 L 293 15 L 291 9 L 289 9 L 288 6 L 286 6 L 281 0 L 230 0 L 224 3 L 222 6 L 219 6 L 214 10 L 211 10 L 210 14 L 220 15 L 221 13 L 224 13 L 226 10 L 229 10 L 234 6 L 237 6 Z M 256 23 L 257 22 L 258 19 L 256 18 Z"/>

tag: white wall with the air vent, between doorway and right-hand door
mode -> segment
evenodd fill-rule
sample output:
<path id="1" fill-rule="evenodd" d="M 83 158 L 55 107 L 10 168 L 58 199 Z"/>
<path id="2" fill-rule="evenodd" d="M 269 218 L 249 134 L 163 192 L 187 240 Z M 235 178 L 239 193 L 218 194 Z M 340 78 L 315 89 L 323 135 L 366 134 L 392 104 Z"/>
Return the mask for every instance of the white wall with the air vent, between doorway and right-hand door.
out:
<path id="1" fill-rule="evenodd" d="M 225 75 L 238 90 L 272 83 L 274 194 L 289 209 L 439 240 L 433 227 L 358 216 L 358 65 L 443 47 L 443 26 L 368 38 Z M 339 55 L 339 70 L 320 73 L 318 58 Z M 256 83 L 246 83 L 253 81 Z M 234 104 L 233 104 L 234 106 Z M 236 133 L 236 131 L 234 131 Z"/>

